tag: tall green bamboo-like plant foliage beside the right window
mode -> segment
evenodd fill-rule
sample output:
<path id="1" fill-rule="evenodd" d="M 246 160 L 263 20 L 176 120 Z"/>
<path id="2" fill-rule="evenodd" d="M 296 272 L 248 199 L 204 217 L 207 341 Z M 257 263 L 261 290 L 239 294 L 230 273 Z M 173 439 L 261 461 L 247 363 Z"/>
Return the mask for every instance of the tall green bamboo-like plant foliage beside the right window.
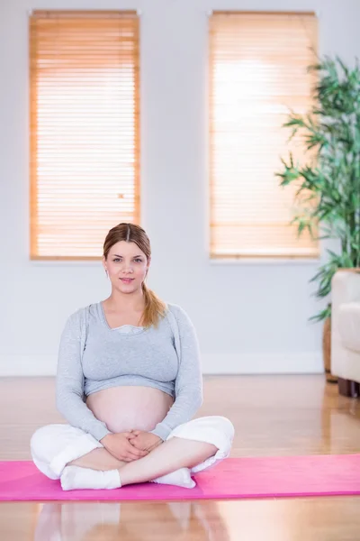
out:
<path id="1" fill-rule="evenodd" d="M 360 67 L 348 67 L 338 57 L 308 68 L 318 78 L 313 105 L 306 115 L 291 113 L 284 124 L 305 142 L 304 165 L 294 163 L 289 152 L 276 173 L 280 185 L 295 183 L 298 211 L 292 221 L 298 235 L 308 230 L 314 239 L 336 239 L 340 249 L 327 249 L 326 262 L 311 279 L 318 282 L 314 293 L 327 298 L 331 280 L 340 268 L 360 267 Z M 311 320 L 331 315 L 331 302 Z"/>

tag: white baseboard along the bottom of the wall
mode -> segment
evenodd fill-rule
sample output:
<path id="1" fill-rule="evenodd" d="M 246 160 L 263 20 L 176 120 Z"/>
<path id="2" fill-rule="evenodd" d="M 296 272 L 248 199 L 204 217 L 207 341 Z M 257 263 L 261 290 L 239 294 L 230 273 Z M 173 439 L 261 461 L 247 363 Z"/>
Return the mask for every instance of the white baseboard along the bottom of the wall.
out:
<path id="1" fill-rule="evenodd" d="M 0 377 L 54 376 L 53 355 L 0 355 Z M 204 353 L 204 374 L 317 374 L 323 373 L 322 355 L 315 353 Z"/>

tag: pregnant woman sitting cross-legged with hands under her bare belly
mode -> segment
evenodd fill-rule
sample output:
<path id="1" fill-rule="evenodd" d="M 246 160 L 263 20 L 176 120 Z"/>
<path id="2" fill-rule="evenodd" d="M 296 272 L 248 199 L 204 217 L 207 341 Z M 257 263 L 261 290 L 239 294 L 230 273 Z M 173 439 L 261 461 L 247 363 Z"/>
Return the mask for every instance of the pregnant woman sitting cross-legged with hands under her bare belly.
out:
<path id="1" fill-rule="evenodd" d="M 62 332 L 56 394 L 69 424 L 39 428 L 31 455 L 64 491 L 193 488 L 192 473 L 229 456 L 229 419 L 191 420 L 202 404 L 196 333 L 183 308 L 146 286 L 150 261 L 139 225 L 113 227 L 103 243 L 111 295 L 78 309 Z"/>

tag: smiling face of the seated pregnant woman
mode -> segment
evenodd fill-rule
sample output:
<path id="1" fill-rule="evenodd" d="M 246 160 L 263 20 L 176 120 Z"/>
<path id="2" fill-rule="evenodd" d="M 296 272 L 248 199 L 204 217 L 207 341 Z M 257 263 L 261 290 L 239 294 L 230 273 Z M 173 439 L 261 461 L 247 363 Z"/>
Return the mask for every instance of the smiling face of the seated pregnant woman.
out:
<path id="1" fill-rule="evenodd" d="M 136 243 L 113 244 L 107 256 L 103 258 L 103 267 L 108 272 L 112 286 L 124 293 L 141 288 L 145 280 L 150 259 L 139 249 Z"/>

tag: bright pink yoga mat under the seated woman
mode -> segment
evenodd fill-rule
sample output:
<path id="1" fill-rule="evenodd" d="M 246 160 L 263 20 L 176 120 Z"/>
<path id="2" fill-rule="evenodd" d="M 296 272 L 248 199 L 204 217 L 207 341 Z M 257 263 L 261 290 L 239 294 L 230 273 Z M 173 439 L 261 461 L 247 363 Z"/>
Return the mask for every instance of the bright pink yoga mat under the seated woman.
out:
<path id="1" fill-rule="evenodd" d="M 197 486 L 142 483 L 112 491 L 62 491 L 31 462 L 0 462 L 0 500 L 222 500 L 360 494 L 360 454 L 228 458 Z"/>

